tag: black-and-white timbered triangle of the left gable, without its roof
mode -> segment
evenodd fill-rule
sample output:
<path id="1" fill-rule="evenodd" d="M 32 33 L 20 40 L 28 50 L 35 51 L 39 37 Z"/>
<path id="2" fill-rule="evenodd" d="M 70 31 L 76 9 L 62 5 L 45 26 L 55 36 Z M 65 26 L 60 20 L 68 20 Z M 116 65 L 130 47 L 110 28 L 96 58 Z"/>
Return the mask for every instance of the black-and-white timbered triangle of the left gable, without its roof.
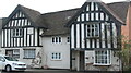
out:
<path id="1" fill-rule="evenodd" d="M 22 11 L 16 11 L 3 27 L 23 27 L 31 26 L 31 21 Z"/>

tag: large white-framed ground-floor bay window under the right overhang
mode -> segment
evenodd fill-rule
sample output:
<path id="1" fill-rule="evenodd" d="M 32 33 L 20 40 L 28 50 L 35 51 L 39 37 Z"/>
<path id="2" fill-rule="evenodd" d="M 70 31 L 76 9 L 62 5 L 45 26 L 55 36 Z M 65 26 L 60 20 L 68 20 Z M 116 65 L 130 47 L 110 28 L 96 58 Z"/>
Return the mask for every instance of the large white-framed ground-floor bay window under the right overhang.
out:
<path id="1" fill-rule="evenodd" d="M 102 62 L 102 61 L 104 61 L 104 59 L 97 59 L 97 61 L 98 60 L 100 60 L 99 61 L 99 63 L 98 62 L 96 62 L 96 52 L 102 52 L 102 51 L 104 51 L 104 52 L 107 52 L 107 54 L 98 54 L 98 57 L 97 58 L 102 58 L 102 56 L 104 57 L 104 56 L 106 56 L 107 57 L 107 59 L 105 60 L 105 61 L 107 61 L 107 63 L 104 63 L 104 62 Z M 100 57 L 99 57 L 100 56 Z M 95 50 L 94 51 L 94 65 L 110 65 L 111 64 L 111 50 Z"/>

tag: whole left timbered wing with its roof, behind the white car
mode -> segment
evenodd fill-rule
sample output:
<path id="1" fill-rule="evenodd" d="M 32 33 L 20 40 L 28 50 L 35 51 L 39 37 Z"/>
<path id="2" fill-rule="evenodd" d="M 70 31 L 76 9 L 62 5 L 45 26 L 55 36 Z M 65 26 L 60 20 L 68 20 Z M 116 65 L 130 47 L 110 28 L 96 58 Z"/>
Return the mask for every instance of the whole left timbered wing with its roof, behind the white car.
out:
<path id="1" fill-rule="evenodd" d="M 39 16 L 39 12 L 17 5 L 9 17 L 3 19 L 2 49 L 5 54 L 27 64 L 35 62 L 36 58 L 41 58 L 40 35 L 46 26 L 41 25 L 43 21 Z M 39 62 L 35 64 L 39 65 Z"/>

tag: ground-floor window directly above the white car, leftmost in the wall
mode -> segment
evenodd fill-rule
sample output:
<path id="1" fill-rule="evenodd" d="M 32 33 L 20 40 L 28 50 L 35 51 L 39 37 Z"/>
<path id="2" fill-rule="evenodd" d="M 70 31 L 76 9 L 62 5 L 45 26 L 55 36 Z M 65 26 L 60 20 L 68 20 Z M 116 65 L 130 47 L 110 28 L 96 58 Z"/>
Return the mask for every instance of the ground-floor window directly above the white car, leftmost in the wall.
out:
<path id="1" fill-rule="evenodd" d="M 20 50 L 19 49 L 9 49 L 5 50 L 5 54 L 14 58 L 20 58 Z"/>

